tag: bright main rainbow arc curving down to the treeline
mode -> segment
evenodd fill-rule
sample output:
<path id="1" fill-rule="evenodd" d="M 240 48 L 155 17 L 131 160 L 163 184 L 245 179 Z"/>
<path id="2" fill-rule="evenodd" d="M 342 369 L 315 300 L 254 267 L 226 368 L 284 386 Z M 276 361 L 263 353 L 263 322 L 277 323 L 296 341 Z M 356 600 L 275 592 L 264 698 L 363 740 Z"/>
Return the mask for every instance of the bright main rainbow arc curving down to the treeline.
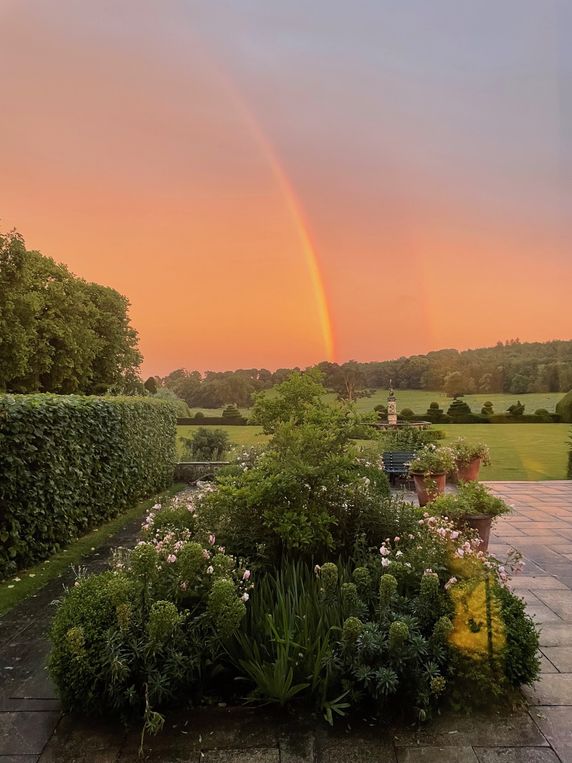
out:
<path id="1" fill-rule="evenodd" d="M 195 53 L 196 52 L 198 52 L 197 46 L 195 46 Z M 256 144 L 259 146 L 260 150 L 262 151 L 264 158 L 266 159 L 268 166 L 270 167 L 272 175 L 274 179 L 276 180 L 278 187 L 280 188 L 280 192 L 286 203 L 286 207 L 288 209 L 290 219 L 292 220 L 294 227 L 296 228 L 296 233 L 298 235 L 298 239 L 302 246 L 302 251 L 304 252 L 304 258 L 306 260 L 306 265 L 308 267 L 308 272 L 310 274 L 312 289 L 316 299 L 316 307 L 318 311 L 320 333 L 322 335 L 322 340 L 324 343 L 326 360 L 334 361 L 335 355 L 336 355 L 335 342 L 334 342 L 334 329 L 332 325 L 331 312 L 330 312 L 328 300 L 326 297 L 324 279 L 322 277 L 322 273 L 320 270 L 320 262 L 319 262 L 318 254 L 316 252 L 316 247 L 314 246 L 312 242 L 310 230 L 304 218 L 302 206 L 300 202 L 298 201 L 296 192 L 294 188 L 292 187 L 292 183 L 290 182 L 286 171 L 282 167 L 282 164 L 278 158 L 278 155 L 276 154 L 276 151 L 272 143 L 268 139 L 264 130 L 261 128 L 255 115 L 252 113 L 252 111 L 246 104 L 244 98 L 242 97 L 242 95 L 240 94 L 240 92 L 238 91 L 234 83 L 232 82 L 232 80 L 228 76 L 226 76 L 226 74 L 222 72 L 218 66 L 214 64 L 214 62 L 209 56 L 206 56 L 204 54 L 204 51 L 203 51 L 202 57 L 208 61 L 209 68 L 211 68 L 211 70 L 216 74 L 217 79 L 221 82 L 222 86 L 224 87 L 224 90 L 229 95 L 229 98 L 232 101 L 233 106 L 236 108 L 237 112 L 240 114 L 242 120 L 248 127 Z"/>

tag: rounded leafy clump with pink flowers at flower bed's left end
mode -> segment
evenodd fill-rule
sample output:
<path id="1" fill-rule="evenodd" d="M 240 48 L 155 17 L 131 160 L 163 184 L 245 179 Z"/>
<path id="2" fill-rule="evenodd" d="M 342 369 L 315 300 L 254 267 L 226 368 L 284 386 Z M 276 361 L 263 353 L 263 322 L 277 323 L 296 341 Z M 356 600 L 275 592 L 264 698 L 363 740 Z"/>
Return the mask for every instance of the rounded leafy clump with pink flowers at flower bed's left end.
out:
<path id="1" fill-rule="evenodd" d="M 192 498 L 155 506 L 145 540 L 119 550 L 111 571 L 80 577 L 60 603 L 49 671 L 66 711 L 138 715 L 157 731 L 157 708 L 200 697 L 212 678 L 244 617 L 250 572 L 214 536 L 176 528 L 177 512 L 192 516 Z"/>

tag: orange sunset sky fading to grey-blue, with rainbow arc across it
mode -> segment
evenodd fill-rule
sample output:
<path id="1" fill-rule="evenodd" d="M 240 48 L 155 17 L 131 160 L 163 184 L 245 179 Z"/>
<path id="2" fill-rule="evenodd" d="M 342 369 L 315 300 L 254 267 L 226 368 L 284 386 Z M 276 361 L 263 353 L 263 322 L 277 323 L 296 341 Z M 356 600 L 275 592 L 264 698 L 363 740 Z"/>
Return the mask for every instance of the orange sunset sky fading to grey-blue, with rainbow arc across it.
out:
<path id="1" fill-rule="evenodd" d="M 570 338 L 568 0 L 0 0 L 0 228 L 144 375 Z"/>

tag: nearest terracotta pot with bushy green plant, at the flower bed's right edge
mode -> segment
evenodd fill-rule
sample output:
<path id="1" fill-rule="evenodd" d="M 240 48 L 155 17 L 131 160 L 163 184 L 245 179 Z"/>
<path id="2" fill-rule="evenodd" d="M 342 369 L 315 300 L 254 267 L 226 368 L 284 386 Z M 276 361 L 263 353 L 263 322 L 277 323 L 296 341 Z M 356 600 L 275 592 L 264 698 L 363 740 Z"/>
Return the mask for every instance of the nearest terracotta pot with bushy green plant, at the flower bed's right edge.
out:
<path id="1" fill-rule="evenodd" d="M 508 514 L 510 507 L 480 482 L 464 482 L 457 493 L 437 498 L 431 510 L 453 520 L 460 528 L 468 526 L 476 530 L 481 538 L 480 550 L 486 551 L 493 520 Z"/>

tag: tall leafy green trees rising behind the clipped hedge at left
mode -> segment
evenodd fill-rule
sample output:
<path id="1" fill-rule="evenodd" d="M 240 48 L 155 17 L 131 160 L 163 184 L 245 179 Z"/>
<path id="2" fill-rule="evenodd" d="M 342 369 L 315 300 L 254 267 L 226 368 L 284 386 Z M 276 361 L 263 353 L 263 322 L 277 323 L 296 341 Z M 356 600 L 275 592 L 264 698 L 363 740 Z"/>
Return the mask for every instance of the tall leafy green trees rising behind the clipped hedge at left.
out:
<path id="1" fill-rule="evenodd" d="M 102 393 L 136 381 L 129 303 L 87 283 L 17 233 L 0 234 L 0 390 Z"/>

